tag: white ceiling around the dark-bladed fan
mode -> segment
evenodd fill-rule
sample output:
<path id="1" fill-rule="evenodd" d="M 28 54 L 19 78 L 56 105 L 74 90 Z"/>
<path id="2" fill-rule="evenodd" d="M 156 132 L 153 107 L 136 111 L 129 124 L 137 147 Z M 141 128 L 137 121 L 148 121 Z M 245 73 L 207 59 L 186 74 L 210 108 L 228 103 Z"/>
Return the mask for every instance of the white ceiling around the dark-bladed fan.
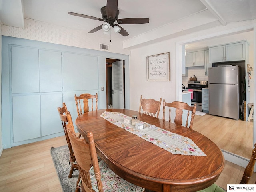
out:
<path id="1" fill-rule="evenodd" d="M 24 20 L 30 19 L 89 32 L 104 22 L 72 16 L 68 12 L 102 18 L 100 8 L 103 6 L 106 0 L 0 0 L 0 21 L 3 25 L 24 28 Z M 119 0 L 118 9 L 119 19 L 150 19 L 148 24 L 120 24 L 129 35 L 112 33 L 111 38 L 122 41 L 168 24 L 178 23 L 176 28 L 180 28 L 186 18 L 202 12 L 208 13 L 203 14 L 204 24 L 219 21 L 219 25 L 226 25 L 256 19 L 256 0 Z M 94 34 L 106 36 L 103 30 Z"/>

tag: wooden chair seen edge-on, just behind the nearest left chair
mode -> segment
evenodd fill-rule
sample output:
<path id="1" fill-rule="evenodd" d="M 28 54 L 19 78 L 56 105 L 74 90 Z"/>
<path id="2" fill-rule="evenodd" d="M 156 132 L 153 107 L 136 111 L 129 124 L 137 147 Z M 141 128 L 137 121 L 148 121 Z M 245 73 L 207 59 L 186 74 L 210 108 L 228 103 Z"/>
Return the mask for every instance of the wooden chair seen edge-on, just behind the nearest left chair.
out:
<path id="1" fill-rule="evenodd" d="M 64 133 L 65 133 L 66 141 L 67 141 L 67 144 L 68 144 L 69 160 L 70 160 L 70 165 L 71 165 L 68 178 L 71 178 L 74 170 L 78 170 L 78 165 L 77 165 L 76 157 L 74 155 L 73 148 L 72 148 L 72 145 L 70 143 L 70 139 L 68 137 L 68 132 L 67 132 L 68 119 L 67 119 L 67 116 L 66 116 L 67 114 L 66 113 L 68 112 L 68 110 L 67 110 L 67 107 L 66 107 L 65 103 L 63 103 L 63 107 L 58 107 L 57 109 L 58 109 L 58 112 L 59 112 L 60 120 L 61 120 L 62 127 L 63 127 Z M 79 176 L 79 180 L 80 180 L 80 176 Z M 79 182 L 79 180 L 78 180 L 78 182 Z M 76 192 L 78 192 L 78 191 L 79 191 L 79 189 L 77 188 Z"/>

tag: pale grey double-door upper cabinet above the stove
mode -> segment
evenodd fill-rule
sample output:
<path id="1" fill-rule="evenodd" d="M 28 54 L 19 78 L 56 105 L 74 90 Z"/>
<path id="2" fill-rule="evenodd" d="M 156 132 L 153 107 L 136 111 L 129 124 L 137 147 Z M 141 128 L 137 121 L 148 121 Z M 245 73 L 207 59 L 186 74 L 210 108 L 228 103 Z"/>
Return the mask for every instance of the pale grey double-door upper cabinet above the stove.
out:
<path id="1" fill-rule="evenodd" d="M 186 67 L 204 66 L 204 51 L 186 53 Z"/>

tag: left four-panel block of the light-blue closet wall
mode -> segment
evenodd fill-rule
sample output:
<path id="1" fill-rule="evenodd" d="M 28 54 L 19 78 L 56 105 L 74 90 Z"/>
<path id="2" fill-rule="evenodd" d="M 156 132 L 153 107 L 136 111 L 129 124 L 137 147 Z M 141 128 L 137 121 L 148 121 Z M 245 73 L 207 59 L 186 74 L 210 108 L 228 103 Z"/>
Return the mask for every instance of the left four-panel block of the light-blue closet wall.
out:
<path id="1" fill-rule="evenodd" d="M 12 46 L 13 143 L 62 132 L 62 53 Z"/>

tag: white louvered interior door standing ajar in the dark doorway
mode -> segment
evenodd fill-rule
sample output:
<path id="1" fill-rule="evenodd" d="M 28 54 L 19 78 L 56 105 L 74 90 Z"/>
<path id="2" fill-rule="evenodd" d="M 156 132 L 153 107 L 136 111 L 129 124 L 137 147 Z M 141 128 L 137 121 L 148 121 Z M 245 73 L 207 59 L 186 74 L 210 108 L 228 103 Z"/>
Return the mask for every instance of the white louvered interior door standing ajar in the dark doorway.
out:
<path id="1" fill-rule="evenodd" d="M 112 98 L 114 109 L 124 109 L 123 61 L 112 63 Z"/>

